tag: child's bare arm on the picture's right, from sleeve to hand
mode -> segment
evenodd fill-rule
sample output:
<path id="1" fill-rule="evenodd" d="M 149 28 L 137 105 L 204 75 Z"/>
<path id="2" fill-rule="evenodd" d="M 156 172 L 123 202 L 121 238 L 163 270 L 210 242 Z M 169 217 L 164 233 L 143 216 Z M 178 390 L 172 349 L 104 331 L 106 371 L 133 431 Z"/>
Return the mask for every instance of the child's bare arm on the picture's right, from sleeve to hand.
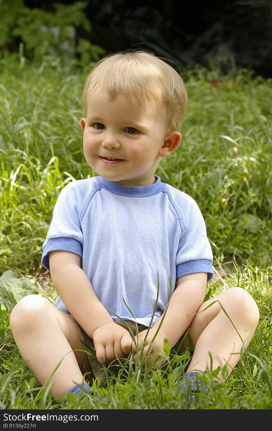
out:
<path id="1" fill-rule="evenodd" d="M 158 322 L 148 332 L 148 337 L 145 342 L 144 351 L 148 354 L 163 353 L 164 338 L 167 338 L 173 347 L 182 334 L 189 327 L 194 314 L 201 306 L 205 296 L 205 288 L 207 283 L 207 273 L 198 272 L 196 274 L 184 275 L 176 280 L 176 288 L 170 298 L 168 308 L 163 313 Z M 151 340 L 154 338 L 158 327 L 161 328 L 150 346 Z M 145 337 L 146 330 L 141 332 L 142 340 Z M 139 351 L 141 347 L 139 346 Z M 133 344 L 132 352 L 136 353 L 136 348 Z M 134 356 L 135 357 L 135 356 Z"/>

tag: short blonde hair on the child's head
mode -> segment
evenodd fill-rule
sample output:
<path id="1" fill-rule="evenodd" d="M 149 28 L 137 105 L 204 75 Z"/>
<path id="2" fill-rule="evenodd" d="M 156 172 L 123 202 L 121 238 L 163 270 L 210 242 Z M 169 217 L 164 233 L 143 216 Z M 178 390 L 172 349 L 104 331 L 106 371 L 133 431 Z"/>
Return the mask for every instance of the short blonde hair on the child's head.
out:
<path id="1" fill-rule="evenodd" d="M 87 96 L 97 87 L 108 91 L 112 98 L 121 94 L 139 104 L 151 103 L 163 108 L 171 130 L 180 130 L 188 108 L 188 93 L 181 76 L 160 57 L 145 51 L 110 54 L 99 60 L 89 73 L 81 104 L 87 115 Z"/>

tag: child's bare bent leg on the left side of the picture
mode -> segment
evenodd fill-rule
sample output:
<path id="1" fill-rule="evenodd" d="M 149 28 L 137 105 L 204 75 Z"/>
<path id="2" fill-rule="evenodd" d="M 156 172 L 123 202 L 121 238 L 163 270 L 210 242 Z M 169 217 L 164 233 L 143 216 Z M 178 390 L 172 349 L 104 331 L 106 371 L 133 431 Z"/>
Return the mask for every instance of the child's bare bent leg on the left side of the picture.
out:
<path id="1" fill-rule="evenodd" d="M 64 359 L 50 382 L 53 398 L 63 397 L 74 386 L 83 382 L 84 364 L 89 367 L 82 349 L 79 331 L 68 315 L 56 309 L 48 300 L 39 295 L 28 295 L 14 307 L 10 315 L 10 327 L 15 342 L 28 362 L 28 368 L 44 385 L 56 365 Z M 69 353 L 70 352 L 70 353 Z"/>

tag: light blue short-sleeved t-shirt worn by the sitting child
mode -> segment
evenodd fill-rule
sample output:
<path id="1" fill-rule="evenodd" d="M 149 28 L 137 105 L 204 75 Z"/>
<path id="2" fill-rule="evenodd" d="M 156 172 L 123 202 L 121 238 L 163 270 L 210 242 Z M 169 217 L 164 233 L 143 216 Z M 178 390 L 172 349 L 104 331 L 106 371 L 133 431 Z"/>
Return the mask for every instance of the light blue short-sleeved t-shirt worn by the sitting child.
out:
<path id="1" fill-rule="evenodd" d="M 50 251 L 81 257 L 96 296 L 115 322 L 121 317 L 148 326 L 158 291 L 153 326 L 176 278 L 196 272 L 207 272 L 207 281 L 213 277 L 212 250 L 197 203 L 155 179 L 141 187 L 99 176 L 69 183 L 56 201 L 43 244 L 42 264 L 48 270 Z M 60 297 L 55 306 L 68 312 Z"/>

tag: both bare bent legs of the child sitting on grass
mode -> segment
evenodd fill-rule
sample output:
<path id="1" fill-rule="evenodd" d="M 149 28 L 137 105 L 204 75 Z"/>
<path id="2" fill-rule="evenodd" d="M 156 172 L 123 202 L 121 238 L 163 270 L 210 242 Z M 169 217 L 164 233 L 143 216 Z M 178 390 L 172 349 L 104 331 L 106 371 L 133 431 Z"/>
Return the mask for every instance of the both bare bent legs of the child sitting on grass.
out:
<path id="1" fill-rule="evenodd" d="M 259 322 L 258 307 L 244 289 L 225 290 L 204 302 L 198 312 L 214 301 L 222 304 L 236 329 L 219 302 L 195 315 L 189 328 L 194 353 L 187 372 L 204 372 L 207 366 L 210 368 L 210 352 L 212 368 L 227 364 L 230 373 L 240 359 L 244 340 L 247 340 L 247 347 Z M 19 301 L 11 312 L 10 327 L 22 357 L 28 361 L 29 369 L 41 385 L 64 357 L 49 379 L 53 382 L 51 393 L 56 400 L 75 383 L 82 383 L 83 374 L 91 371 L 86 352 L 79 351 L 84 350 L 84 345 L 77 326 L 45 298 L 28 295 Z M 183 344 L 184 350 L 186 347 L 189 347 L 188 337 Z"/>

